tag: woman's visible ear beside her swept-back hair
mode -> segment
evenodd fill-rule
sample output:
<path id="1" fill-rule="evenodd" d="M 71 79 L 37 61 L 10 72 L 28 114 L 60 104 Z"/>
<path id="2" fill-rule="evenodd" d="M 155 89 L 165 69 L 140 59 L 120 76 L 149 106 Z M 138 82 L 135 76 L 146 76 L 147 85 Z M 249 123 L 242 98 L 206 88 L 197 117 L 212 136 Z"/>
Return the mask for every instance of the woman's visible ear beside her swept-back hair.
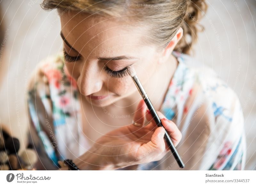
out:
<path id="1" fill-rule="evenodd" d="M 169 42 L 169 44 L 161 52 L 159 61 L 158 61 L 159 64 L 164 63 L 170 57 L 173 49 L 178 44 L 182 36 L 183 36 L 183 29 L 180 27 L 177 33 L 172 38 L 172 40 Z"/>

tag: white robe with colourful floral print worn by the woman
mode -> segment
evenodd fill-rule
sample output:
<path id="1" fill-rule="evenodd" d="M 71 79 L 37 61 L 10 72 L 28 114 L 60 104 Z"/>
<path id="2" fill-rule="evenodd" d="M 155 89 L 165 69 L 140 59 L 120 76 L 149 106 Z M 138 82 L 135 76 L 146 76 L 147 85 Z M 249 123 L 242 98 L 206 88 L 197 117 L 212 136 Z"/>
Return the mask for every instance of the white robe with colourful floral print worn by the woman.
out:
<path id="1" fill-rule="evenodd" d="M 193 67 L 191 56 L 176 51 L 172 54 L 179 65 L 160 111 L 182 133 L 176 148 L 185 163 L 184 170 L 244 169 L 244 118 L 237 95 L 211 69 Z M 58 160 L 74 159 L 90 149 L 81 130 L 77 91 L 62 53 L 40 62 L 31 75 L 28 137 L 40 159 L 37 169 L 57 169 Z M 179 169 L 171 153 L 138 167 Z"/>

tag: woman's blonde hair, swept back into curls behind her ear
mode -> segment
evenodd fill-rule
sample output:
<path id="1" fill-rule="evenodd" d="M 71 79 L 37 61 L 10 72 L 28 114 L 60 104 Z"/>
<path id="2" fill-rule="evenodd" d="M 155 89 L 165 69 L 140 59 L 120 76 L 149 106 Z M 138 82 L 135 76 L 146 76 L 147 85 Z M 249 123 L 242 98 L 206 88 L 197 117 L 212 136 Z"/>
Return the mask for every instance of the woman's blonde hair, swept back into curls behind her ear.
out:
<path id="1" fill-rule="evenodd" d="M 189 53 L 203 27 L 198 23 L 207 9 L 204 0 L 44 0 L 44 10 L 82 11 L 105 17 L 122 17 L 148 28 L 147 40 L 159 49 L 166 47 L 180 27 L 183 37 L 174 50 Z M 124 19 L 124 18 L 123 18 Z"/>

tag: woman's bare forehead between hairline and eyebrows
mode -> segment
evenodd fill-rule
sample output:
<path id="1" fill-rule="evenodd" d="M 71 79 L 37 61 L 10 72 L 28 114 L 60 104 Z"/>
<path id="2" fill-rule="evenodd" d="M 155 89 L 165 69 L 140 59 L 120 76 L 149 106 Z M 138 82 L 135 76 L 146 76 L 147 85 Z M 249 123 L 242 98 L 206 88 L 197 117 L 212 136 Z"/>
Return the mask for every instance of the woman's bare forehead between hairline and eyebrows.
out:
<path id="1" fill-rule="evenodd" d="M 90 55 L 107 54 L 113 49 L 117 53 L 124 49 L 135 52 L 134 46 L 141 46 L 144 37 L 141 27 L 128 24 L 120 17 L 106 18 L 68 11 L 60 20 L 67 41 L 79 52 L 90 52 Z"/>

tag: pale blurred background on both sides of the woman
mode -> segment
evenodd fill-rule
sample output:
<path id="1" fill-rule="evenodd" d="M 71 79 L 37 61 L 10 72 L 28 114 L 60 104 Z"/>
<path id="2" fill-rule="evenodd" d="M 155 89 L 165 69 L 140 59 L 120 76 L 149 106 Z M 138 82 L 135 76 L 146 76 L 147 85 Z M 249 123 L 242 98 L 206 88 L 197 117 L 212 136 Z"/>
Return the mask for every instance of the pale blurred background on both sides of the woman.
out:
<path id="1" fill-rule="evenodd" d="M 0 123 L 27 145 L 27 83 L 38 62 L 62 50 L 56 11 L 44 11 L 41 0 L 1 0 L 4 19 L 0 47 Z M 247 139 L 246 170 L 256 170 L 256 1 L 207 1 L 192 56 L 213 68 L 238 95 Z"/>

